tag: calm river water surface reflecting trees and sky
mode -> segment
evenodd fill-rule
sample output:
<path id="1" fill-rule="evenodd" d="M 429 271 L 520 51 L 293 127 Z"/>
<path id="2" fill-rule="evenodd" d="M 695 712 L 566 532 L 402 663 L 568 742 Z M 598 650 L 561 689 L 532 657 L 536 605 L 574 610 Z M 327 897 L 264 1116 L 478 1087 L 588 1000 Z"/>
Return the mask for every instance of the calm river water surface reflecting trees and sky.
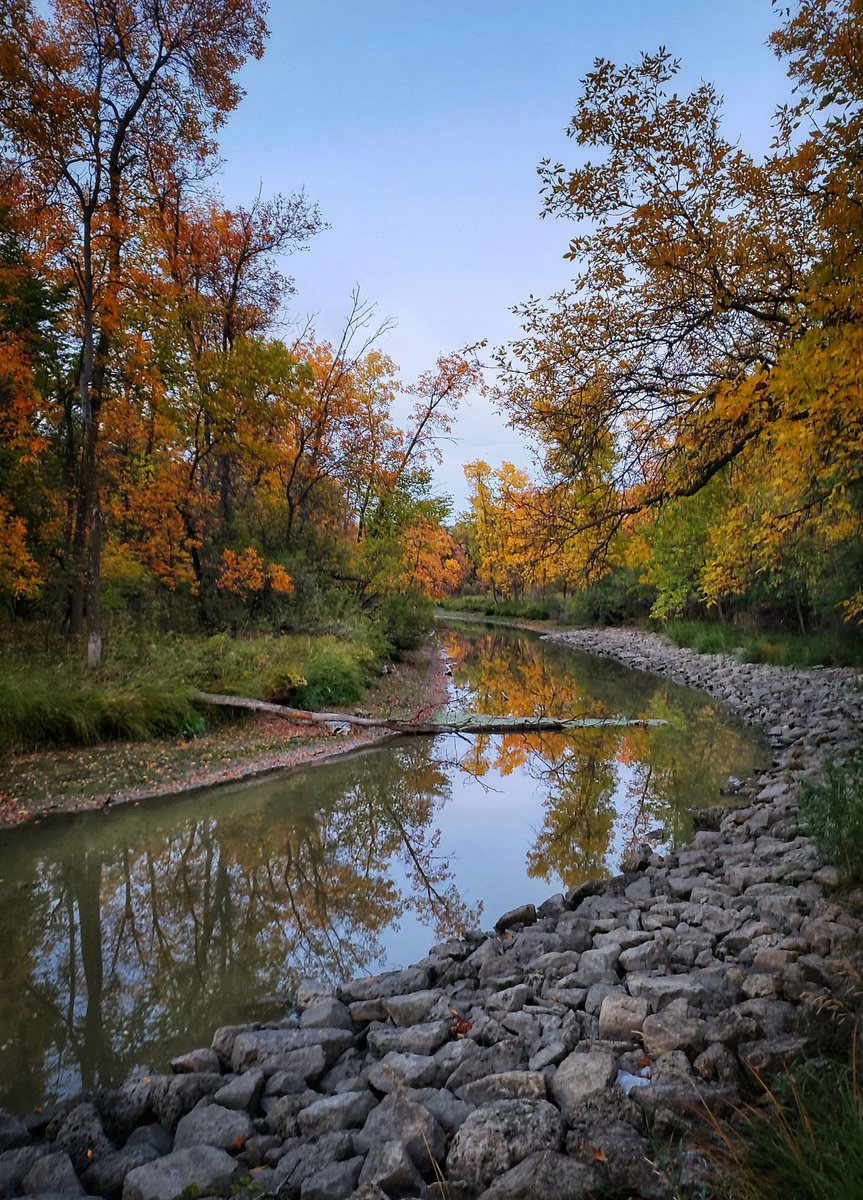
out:
<path id="1" fill-rule="evenodd" d="M 667 725 L 402 739 L 4 834 L 1 1106 L 164 1068 L 216 1025 L 280 1015 L 305 974 L 406 965 L 613 872 L 765 761 L 697 692 L 499 626 L 439 636 L 454 708 Z"/>

